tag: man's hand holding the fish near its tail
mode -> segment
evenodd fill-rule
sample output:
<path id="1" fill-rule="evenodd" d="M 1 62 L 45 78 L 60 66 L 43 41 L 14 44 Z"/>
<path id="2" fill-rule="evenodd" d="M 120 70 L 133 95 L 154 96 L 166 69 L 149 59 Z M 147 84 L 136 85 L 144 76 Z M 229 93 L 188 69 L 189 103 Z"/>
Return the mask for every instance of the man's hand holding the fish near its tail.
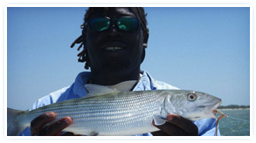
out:
<path id="1" fill-rule="evenodd" d="M 31 135 L 38 136 L 56 136 L 56 135 L 74 135 L 73 133 L 62 134 L 62 130 L 72 124 L 70 117 L 65 117 L 45 126 L 53 119 L 56 119 L 54 112 L 45 112 L 31 121 Z"/>

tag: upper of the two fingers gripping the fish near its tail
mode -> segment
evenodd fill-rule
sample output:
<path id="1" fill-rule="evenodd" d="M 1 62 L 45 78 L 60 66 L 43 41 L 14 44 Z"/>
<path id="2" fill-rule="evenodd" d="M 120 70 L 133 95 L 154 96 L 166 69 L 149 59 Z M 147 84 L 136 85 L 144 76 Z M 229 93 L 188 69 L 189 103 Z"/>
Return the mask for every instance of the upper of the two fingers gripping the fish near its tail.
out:
<path id="1" fill-rule="evenodd" d="M 54 112 L 45 112 L 31 121 L 31 135 L 38 134 L 46 123 L 56 118 Z"/>

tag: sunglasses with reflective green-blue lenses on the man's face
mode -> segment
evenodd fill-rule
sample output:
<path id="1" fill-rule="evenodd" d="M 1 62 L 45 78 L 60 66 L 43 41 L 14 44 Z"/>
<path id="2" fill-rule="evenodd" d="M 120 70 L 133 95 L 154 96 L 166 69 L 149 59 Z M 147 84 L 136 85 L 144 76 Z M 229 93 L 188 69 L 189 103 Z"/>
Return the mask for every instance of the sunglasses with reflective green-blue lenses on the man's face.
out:
<path id="1" fill-rule="evenodd" d="M 135 17 L 119 17 L 114 19 L 110 17 L 93 17 L 86 22 L 86 25 L 92 31 L 107 31 L 113 24 L 120 31 L 136 31 L 139 28 L 139 24 L 142 23 Z"/>

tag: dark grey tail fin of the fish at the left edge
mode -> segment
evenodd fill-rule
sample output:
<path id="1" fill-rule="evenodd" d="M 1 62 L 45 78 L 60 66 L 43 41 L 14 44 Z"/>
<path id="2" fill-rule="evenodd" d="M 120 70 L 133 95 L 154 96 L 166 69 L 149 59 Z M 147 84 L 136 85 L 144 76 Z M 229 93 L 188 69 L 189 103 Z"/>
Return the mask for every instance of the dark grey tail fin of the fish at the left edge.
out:
<path id="1" fill-rule="evenodd" d="M 7 135 L 8 136 L 17 136 L 21 133 L 26 126 L 20 125 L 21 121 L 17 120 L 17 115 L 21 112 L 20 110 L 15 110 L 7 108 Z"/>

